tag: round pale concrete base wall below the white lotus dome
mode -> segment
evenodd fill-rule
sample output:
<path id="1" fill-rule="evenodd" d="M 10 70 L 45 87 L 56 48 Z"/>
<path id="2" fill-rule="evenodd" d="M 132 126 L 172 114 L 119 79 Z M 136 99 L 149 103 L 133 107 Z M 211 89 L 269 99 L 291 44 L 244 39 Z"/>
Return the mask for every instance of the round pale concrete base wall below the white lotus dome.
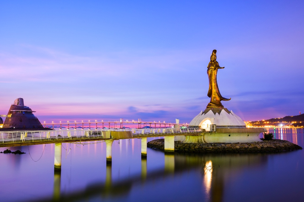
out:
<path id="1" fill-rule="evenodd" d="M 261 142 L 260 133 L 203 133 L 201 135 L 177 135 L 175 141 L 183 143 L 237 143 Z"/>

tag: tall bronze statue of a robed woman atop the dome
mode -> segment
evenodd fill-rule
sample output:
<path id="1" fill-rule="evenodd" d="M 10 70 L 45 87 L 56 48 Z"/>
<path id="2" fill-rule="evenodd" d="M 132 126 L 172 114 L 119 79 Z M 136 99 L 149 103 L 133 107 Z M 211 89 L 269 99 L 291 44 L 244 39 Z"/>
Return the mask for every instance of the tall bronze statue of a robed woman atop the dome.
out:
<path id="1" fill-rule="evenodd" d="M 223 69 L 225 67 L 220 67 L 219 63 L 216 61 L 216 50 L 212 51 L 211 57 L 210 57 L 210 62 L 207 67 L 207 74 L 209 77 L 209 90 L 208 90 L 208 97 L 210 98 L 210 102 L 207 105 L 207 108 L 215 108 L 215 107 L 220 107 L 223 108 L 224 106 L 222 105 L 221 101 L 228 101 L 231 98 L 227 99 L 224 98 L 220 92 L 219 92 L 219 87 L 217 86 L 217 81 L 216 81 L 216 74 L 218 69 Z"/>

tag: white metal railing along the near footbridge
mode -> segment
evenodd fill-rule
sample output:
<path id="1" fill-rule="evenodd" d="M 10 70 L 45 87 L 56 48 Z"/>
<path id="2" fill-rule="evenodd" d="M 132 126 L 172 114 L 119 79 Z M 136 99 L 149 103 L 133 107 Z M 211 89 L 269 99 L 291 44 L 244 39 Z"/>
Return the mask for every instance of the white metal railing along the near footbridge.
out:
<path id="1" fill-rule="evenodd" d="M 132 131 L 133 137 L 136 136 L 153 136 L 153 135 L 170 135 L 170 134 L 187 134 L 199 133 L 198 128 L 146 128 L 146 129 L 103 129 L 103 130 L 51 130 L 51 131 L 0 131 L 0 141 L 25 141 L 25 140 L 58 140 L 71 139 L 72 137 L 97 137 L 104 138 L 106 131 Z"/>

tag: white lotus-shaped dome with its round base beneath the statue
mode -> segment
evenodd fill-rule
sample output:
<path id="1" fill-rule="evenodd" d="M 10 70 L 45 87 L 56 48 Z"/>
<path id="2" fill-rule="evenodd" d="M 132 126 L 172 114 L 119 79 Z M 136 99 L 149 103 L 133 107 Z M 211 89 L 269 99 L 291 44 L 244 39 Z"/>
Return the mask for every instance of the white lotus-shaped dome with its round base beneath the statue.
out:
<path id="1" fill-rule="evenodd" d="M 201 128 L 199 135 L 175 136 L 184 143 L 236 143 L 259 142 L 264 128 L 247 128 L 242 119 L 227 108 L 206 108 L 189 124 L 189 128 Z"/>

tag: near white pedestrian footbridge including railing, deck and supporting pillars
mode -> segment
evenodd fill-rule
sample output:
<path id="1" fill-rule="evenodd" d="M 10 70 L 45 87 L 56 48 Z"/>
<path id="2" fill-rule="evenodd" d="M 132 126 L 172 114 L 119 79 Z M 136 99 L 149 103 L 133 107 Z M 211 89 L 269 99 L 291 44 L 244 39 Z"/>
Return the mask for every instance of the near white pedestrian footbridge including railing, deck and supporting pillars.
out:
<path id="1" fill-rule="evenodd" d="M 64 142 L 82 144 L 86 141 L 104 141 L 106 160 L 112 163 L 114 140 L 140 138 L 141 156 L 147 157 L 147 137 L 165 139 L 165 152 L 174 152 L 175 135 L 199 135 L 204 129 L 198 128 L 148 128 L 148 129 L 103 129 L 103 130 L 50 130 L 50 131 L 0 131 L 0 147 L 32 144 L 55 144 L 54 169 L 61 170 L 61 147 Z"/>

